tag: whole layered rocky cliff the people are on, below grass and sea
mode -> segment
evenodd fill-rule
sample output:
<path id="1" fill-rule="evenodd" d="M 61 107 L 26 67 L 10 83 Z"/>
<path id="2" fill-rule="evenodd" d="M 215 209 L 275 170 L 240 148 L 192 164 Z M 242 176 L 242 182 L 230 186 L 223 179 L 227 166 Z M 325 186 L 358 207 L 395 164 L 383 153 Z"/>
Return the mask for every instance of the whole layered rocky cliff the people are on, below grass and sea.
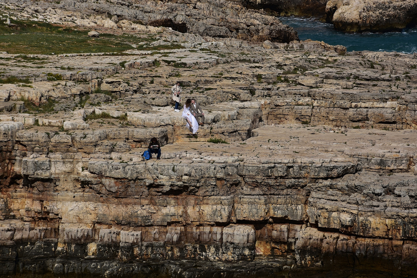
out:
<path id="1" fill-rule="evenodd" d="M 0 54 L 0 275 L 417 276 L 416 55 L 98 23 Z"/>

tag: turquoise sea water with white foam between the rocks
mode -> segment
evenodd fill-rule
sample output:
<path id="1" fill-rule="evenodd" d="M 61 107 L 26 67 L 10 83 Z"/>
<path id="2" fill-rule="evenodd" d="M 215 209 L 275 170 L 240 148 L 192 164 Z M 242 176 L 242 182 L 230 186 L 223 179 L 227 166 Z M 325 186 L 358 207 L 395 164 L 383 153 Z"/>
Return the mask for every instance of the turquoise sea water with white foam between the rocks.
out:
<path id="1" fill-rule="evenodd" d="M 298 32 L 300 40 L 319 40 L 330 45 L 344 45 L 348 51 L 397 51 L 417 52 L 417 28 L 402 32 L 346 34 L 334 30 L 333 25 L 319 22 L 314 18 L 280 17 Z"/>

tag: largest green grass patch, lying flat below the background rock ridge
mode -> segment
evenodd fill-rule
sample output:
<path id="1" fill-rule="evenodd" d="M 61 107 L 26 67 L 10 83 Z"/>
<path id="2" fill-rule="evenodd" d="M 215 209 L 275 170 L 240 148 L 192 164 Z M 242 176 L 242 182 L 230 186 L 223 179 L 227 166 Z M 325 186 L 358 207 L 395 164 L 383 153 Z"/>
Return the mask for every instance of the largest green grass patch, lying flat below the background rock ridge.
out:
<path id="1" fill-rule="evenodd" d="M 100 38 L 88 37 L 87 30 L 62 28 L 50 23 L 10 20 L 13 28 L 0 22 L 0 51 L 11 54 L 63 54 L 123 52 L 133 49 L 131 44 L 142 42 L 143 38 L 128 35 L 100 34 Z M 14 35 L 11 35 L 14 33 Z M 150 38 L 154 41 L 154 38 Z M 160 45 L 141 50 L 162 50 L 183 48 L 181 45 Z M 45 58 L 31 58 L 20 55 L 23 60 L 41 61 Z M 44 61 L 42 61 L 45 63 Z"/>

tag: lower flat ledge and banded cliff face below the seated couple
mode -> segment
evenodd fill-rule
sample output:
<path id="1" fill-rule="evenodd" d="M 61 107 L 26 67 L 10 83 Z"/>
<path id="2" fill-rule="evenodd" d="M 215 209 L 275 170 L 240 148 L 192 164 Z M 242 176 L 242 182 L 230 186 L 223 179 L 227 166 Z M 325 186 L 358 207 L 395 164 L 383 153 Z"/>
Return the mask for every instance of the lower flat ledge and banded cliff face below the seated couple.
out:
<path id="1" fill-rule="evenodd" d="M 100 158 L 105 145 L 87 148 L 73 135 L 34 132 L 30 141 L 21 123 L 0 126 L 9 171 L 0 191 L 2 275 L 176 269 L 193 277 L 189 260 L 224 262 L 210 274 L 241 271 L 231 262 L 246 260 L 241 269 L 258 265 L 265 277 L 358 261 L 416 275 L 414 130 L 265 126 L 243 154 L 239 142 L 177 142 L 149 161 L 118 143 L 126 162 Z M 164 267 L 144 270 L 160 260 Z"/>

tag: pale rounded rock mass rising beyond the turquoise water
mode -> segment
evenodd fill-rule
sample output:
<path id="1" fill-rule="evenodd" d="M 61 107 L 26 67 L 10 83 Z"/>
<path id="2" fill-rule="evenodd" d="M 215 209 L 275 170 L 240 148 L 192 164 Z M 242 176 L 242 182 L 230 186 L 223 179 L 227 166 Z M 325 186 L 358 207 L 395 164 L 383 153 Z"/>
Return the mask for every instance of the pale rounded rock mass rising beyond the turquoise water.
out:
<path id="1" fill-rule="evenodd" d="M 386 32 L 417 23 L 417 1 L 330 0 L 327 20 L 344 32 Z"/>

